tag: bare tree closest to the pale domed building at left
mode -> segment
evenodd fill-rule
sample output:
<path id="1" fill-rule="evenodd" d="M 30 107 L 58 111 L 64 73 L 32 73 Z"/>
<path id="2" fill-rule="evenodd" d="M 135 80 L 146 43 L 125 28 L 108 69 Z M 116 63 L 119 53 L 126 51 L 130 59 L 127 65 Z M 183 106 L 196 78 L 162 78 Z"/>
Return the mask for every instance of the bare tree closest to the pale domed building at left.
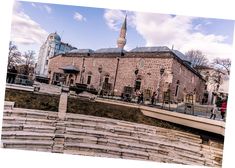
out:
<path id="1" fill-rule="evenodd" d="M 25 52 L 22 55 L 22 59 L 23 59 L 23 74 L 28 75 L 30 73 L 30 71 L 32 71 L 32 68 L 34 66 L 35 63 L 35 52 L 32 50 L 29 50 L 27 52 Z"/>

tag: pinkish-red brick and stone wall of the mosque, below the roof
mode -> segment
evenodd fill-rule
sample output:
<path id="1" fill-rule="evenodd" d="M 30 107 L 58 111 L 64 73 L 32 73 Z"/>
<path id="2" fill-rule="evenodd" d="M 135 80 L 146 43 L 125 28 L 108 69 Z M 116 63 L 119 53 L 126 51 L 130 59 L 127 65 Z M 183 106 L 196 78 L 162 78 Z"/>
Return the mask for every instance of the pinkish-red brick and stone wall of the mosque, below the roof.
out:
<path id="1" fill-rule="evenodd" d="M 63 71 L 59 68 L 66 65 L 72 65 L 82 69 L 84 61 L 85 72 L 83 82 L 87 83 L 87 78 L 91 75 L 91 84 L 98 89 L 100 79 L 103 82 L 105 77 L 109 77 L 109 83 L 114 86 L 115 76 L 115 92 L 116 95 L 121 95 L 124 86 L 135 86 L 136 78 L 141 79 L 141 90 L 150 89 L 152 92 L 156 91 L 158 84 L 160 85 L 160 99 L 162 99 L 163 91 L 167 88 L 171 90 L 172 100 L 182 100 L 184 92 L 192 92 L 196 89 L 198 93 L 198 100 L 203 93 L 204 82 L 195 73 L 189 70 L 179 60 L 169 53 L 126 53 L 121 56 L 120 53 L 93 53 L 91 56 L 87 54 L 67 54 L 56 56 L 49 61 L 50 78 L 54 72 Z M 118 71 L 116 75 L 116 69 Z M 102 66 L 102 73 L 100 74 L 98 68 Z M 161 77 L 160 69 L 164 68 L 164 75 Z M 138 74 L 135 70 L 138 69 Z M 165 82 L 165 75 L 173 72 L 173 81 Z M 81 72 L 77 75 L 76 82 L 80 83 Z M 177 81 L 179 80 L 178 94 L 175 96 Z M 185 89 L 184 89 L 185 88 Z"/>

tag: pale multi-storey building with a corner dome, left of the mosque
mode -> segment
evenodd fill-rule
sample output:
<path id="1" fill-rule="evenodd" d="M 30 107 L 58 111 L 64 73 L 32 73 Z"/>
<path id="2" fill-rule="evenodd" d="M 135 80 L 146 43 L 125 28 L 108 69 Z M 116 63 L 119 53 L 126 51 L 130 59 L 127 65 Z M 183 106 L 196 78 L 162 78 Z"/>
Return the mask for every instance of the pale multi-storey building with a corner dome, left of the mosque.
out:
<path id="1" fill-rule="evenodd" d="M 47 78 L 49 58 L 59 53 L 68 52 L 72 49 L 76 48 L 67 43 L 63 43 L 56 32 L 51 33 L 47 37 L 45 43 L 40 47 L 35 75 Z"/>

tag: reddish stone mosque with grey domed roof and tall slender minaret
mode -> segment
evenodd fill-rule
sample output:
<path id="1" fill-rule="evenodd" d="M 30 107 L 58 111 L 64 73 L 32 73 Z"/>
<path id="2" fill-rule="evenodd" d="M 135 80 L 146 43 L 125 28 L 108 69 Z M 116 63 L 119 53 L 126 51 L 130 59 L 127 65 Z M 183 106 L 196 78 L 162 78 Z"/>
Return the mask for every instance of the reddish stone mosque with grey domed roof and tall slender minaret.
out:
<path id="1" fill-rule="evenodd" d="M 72 49 L 49 56 L 50 84 L 70 86 L 80 83 L 96 90 L 105 86 L 109 88 L 109 94 L 115 96 L 121 96 L 125 87 L 131 87 L 134 91 L 140 90 L 149 95 L 156 92 L 159 101 L 163 100 L 164 93 L 168 91 L 172 102 L 181 102 L 187 93 L 192 93 L 195 101 L 201 102 L 205 80 L 190 66 L 184 54 L 166 46 L 124 50 L 126 22 L 125 17 L 117 48 L 96 51 Z"/>

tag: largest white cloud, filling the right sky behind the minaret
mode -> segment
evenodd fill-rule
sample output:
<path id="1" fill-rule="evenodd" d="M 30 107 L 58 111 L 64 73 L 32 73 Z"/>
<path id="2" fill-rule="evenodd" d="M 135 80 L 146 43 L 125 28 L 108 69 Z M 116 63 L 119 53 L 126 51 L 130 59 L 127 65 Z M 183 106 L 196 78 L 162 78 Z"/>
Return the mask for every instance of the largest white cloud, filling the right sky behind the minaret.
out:
<path id="1" fill-rule="evenodd" d="M 124 12 L 120 10 L 106 10 L 104 18 L 106 24 L 113 30 L 119 30 L 120 22 L 123 22 Z M 185 53 L 191 49 L 201 50 L 209 60 L 213 58 L 231 58 L 232 45 L 226 44 L 227 38 L 222 35 L 204 34 L 203 25 L 193 25 L 195 17 L 163 15 L 155 13 L 129 13 L 128 25 L 143 37 L 146 46 L 168 46 L 174 45 L 175 49 Z M 119 27 L 119 28 L 118 28 Z M 195 32 L 196 31 L 196 32 Z M 127 39 L 128 40 L 128 39 Z"/>

